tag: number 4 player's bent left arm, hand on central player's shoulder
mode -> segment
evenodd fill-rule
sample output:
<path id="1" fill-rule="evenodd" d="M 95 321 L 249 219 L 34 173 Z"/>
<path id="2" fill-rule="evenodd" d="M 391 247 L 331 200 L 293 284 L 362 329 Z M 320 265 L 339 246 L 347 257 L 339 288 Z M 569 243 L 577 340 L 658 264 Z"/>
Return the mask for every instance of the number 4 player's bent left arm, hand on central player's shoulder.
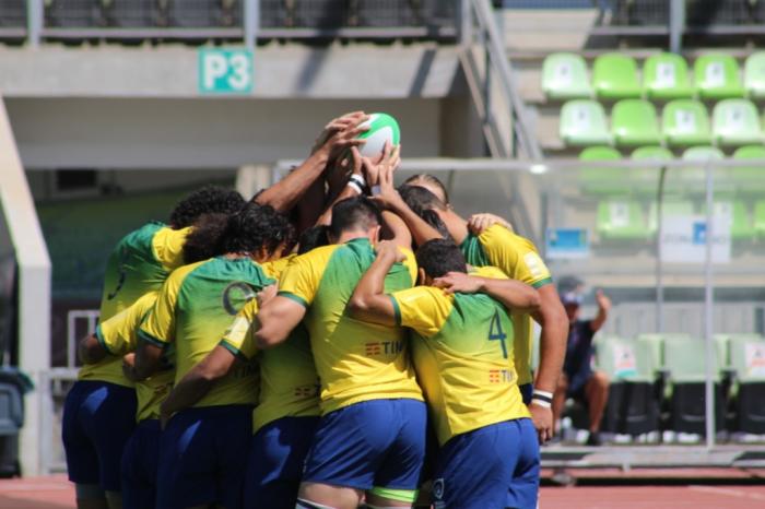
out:
<path id="1" fill-rule="evenodd" d="M 385 294 L 385 276 L 403 254 L 396 242 L 382 241 L 377 247 L 377 258 L 356 285 L 348 304 L 349 315 L 357 320 L 396 325 L 396 308 Z"/>

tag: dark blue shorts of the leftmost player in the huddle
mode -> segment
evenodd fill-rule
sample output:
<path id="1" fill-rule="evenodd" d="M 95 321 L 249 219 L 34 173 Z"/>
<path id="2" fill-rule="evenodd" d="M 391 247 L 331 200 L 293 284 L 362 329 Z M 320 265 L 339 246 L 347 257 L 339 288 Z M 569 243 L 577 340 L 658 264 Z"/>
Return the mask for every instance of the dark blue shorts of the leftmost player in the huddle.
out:
<path id="1" fill-rule="evenodd" d="M 80 380 L 63 404 L 61 438 L 69 481 L 120 490 L 119 465 L 136 428 L 136 390 L 97 380 Z"/>

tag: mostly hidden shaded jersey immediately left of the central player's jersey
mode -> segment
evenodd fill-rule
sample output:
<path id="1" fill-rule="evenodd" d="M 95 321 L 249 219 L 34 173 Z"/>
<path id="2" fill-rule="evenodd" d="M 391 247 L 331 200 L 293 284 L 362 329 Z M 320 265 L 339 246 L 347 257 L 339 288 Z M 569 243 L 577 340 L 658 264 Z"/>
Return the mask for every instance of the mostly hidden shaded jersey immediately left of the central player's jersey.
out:
<path id="1" fill-rule="evenodd" d="M 289 262 L 290 256 L 273 262 L 263 263 L 263 271 L 279 279 Z M 258 348 L 255 341 L 255 320 L 258 301 L 250 300 L 239 311 L 221 345 L 237 357 L 252 358 Z M 310 353 L 308 331 L 298 324 L 287 340 L 258 353 L 260 364 L 260 398 L 252 412 L 252 433 L 282 417 L 317 416 L 319 410 L 319 376 Z"/>

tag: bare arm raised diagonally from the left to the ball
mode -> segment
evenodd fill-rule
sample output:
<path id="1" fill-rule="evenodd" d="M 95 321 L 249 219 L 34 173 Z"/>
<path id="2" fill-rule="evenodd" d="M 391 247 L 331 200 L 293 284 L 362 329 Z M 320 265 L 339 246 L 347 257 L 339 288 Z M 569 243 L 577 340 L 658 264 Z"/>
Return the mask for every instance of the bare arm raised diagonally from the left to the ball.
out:
<path id="1" fill-rule="evenodd" d="M 357 137 L 367 128 L 357 127 L 366 116 L 362 111 L 349 114 L 331 121 L 317 140 L 318 149 L 294 171 L 258 194 L 256 202 L 271 205 L 278 211 L 291 210 L 303 198 L 308 188 L 325 171 L 327 164 L 339 153 L 364 143 Z"/>

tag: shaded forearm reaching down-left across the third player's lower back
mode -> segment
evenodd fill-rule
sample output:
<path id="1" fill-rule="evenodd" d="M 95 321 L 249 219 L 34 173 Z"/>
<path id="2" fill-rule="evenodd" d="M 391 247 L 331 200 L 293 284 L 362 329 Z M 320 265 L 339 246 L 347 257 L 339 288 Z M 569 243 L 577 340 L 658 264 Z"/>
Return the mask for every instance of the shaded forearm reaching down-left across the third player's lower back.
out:
<path id="1" fill-rule="evenodd" d="M 184 409 L 196 404 L 210 392 L 217 380 L 225 377 L 236 363 L 236 357 L 224 346 L 217 345 L 175 386 L 160 411 L 163 423 Z"/>

